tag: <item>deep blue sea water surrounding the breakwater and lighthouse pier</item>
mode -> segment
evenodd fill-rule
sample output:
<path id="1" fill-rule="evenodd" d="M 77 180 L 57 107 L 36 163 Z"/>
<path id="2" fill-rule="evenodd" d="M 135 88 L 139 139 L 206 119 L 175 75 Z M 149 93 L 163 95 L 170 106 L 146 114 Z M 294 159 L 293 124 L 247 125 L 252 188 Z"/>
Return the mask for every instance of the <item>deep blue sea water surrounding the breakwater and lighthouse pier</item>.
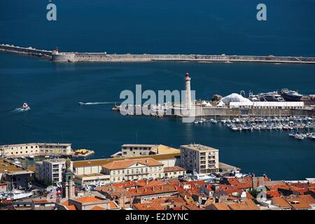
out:
<path id="1" fill-rule="evenodd" d="M 315 1 L 1 1 L 0 42 L 61 51 L 315 56 Z M 70 142 L 108 157 L 125 143 L 192 142 L 220 149 L 220 160 L 272 179 L 315 174 L 315 143 L 287 132 L 235 133 L 223 125 L 111 111 L 122 90 L 182 90 L 189 72 L 199 99 L 288 87 L 314 94 L 315 66 L 303 64 L 55 63 L 0 53 L 0 144 Z M 27 102 L 31 110 L 15 111 Z"/>

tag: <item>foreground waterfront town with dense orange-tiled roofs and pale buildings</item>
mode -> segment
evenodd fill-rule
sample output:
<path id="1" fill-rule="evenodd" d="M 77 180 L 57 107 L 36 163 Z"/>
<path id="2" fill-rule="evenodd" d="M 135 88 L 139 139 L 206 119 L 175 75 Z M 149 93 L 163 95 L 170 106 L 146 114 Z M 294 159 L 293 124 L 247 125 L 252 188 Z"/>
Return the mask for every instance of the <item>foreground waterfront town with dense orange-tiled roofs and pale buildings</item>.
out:
<path id="1" fill-rule="evenodd" d="M 124 152 L 129 152 L 124 153 Z M 218 148 L 124 144 L 113 158 L 0 158 L 0 209 L 314 210 L 315 179 L 271 180 L 219 162 Z"/>

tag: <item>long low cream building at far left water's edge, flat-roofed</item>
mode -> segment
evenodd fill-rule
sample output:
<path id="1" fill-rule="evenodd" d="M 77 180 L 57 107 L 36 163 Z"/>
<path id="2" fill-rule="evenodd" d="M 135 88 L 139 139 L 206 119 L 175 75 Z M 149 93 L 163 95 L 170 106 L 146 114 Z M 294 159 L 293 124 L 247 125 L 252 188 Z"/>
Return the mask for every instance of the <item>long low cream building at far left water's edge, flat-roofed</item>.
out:
<path id="1" fill-rule="evenodd" d="M 71 144 L 27 143 L 0 146 L 0 154 L 6 157 L 28 155 L 71 155 Z"/>

